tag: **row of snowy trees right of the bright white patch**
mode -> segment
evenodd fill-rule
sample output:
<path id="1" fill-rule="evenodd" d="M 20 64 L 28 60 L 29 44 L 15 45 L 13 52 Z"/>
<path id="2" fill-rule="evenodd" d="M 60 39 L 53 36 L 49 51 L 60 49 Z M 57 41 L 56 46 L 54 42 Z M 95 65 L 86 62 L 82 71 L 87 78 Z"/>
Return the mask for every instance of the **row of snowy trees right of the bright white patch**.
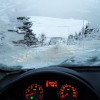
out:
<path id="1" fill-rule="evenodd" d="M 98 29 L 90 28 L 89 24 L 82 31 L 75 33 L 75 35 L 69 35 L 67 39 L 68 45 L 80 44 L 82 40 L 100 40 L 100 32 Z"/>

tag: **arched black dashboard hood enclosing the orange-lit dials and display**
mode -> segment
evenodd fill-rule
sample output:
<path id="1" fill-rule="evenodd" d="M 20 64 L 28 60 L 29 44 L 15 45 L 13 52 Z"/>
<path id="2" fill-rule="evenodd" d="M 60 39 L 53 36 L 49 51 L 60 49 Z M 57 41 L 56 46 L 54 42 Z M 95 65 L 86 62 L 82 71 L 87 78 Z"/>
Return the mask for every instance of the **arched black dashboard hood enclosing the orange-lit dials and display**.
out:
<path id="1" fill-rule="evenodd" d="M 81 74 L 59 67 L 25 72 L 6 85 L 0 93 L 0 100 L 93 99 L 99 100 L 99 97 L 93 86 Z"/>

